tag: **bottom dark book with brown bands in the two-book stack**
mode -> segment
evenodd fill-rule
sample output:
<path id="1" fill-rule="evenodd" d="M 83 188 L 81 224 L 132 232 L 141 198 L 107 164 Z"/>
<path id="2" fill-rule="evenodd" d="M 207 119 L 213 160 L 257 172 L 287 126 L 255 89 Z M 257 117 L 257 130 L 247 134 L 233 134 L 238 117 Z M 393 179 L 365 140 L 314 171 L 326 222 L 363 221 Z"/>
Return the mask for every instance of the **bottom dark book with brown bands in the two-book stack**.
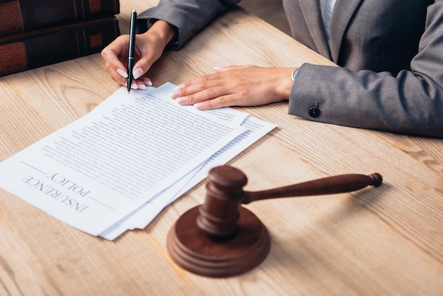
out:
<path id="1" fill-rule="evenodd" d="M 98 53 L 118 35 L 117 18 L 109 17 L 4 36 L 0 38 L 0 76 Z"/>

